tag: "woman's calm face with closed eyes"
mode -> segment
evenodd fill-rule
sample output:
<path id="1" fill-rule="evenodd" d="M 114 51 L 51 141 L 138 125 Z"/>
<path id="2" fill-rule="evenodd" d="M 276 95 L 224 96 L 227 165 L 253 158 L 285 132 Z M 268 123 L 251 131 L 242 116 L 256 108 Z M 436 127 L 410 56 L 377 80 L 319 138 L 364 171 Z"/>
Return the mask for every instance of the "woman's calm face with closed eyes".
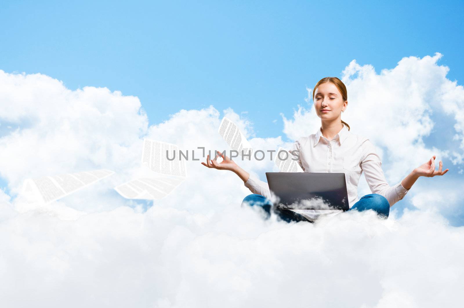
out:
<path id="1" fill-rule="evenodd" d="M 336 119 L 341 116 L 347 105 L 348 101 L 343 101 L 342 94 L 335 84 L 319 84 L 314 94 L 314 108 L 318 117 L 322 120 Z M 322 111 L 323 109 L 329 111 Z"/>

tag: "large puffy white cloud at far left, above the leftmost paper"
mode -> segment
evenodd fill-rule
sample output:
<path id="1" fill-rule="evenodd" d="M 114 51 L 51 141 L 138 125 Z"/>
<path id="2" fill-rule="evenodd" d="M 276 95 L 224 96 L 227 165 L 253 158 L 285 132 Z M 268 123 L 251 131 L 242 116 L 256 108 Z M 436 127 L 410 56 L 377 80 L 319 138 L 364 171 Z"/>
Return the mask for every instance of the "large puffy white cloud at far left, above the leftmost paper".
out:
<path id="1" fill-rule="evenodd" d="M 137 97 L 0 71 L 0 98 L 0 120 L 17 127 L 0 138 L 0 175 L 13 193 L 27 177 L 138 162 L 148 119 Z"/>

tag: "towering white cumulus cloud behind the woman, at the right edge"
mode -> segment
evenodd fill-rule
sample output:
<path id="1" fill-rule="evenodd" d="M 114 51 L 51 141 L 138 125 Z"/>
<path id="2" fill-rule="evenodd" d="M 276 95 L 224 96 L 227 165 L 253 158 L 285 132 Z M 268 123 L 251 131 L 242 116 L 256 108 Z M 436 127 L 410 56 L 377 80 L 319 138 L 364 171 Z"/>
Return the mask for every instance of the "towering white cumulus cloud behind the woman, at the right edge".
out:
<path id="1" fill-rule="evenodd" d="M 462 170 L 464 88 L 446 78 L 449 68 L 438 64 L 441 57 L 436 53 L 433 57 L 403 58 L 396 67 L 381 70 L 380 74 L 372 65 L 361 66 L 353 60 L 342 71 L 341 79 L 348 90 L 348 107 L 342 120 L 350 125 L 352 133 L 374 143 L 392 184 L 433 155 L 437 169 L 438 161 L 443 160 L 445 168 L 452 164 Z M 300 106 L 292 119 L 283 117 L 284 132 L 290 139 L 314 134 L 320 127 L 312 104 L 313 89 L 307 90 L 310 106 Z M 432 141 L 426 142 L 429 139 Z M 442 181 L 428 183 L 444 186 Z M 462 188 L 446 187 L 451 194 Z M 361 195 L 369 193 L 363 177 L 359 188 Z M 454 205 L 459 211 L 462 203 Z"/>

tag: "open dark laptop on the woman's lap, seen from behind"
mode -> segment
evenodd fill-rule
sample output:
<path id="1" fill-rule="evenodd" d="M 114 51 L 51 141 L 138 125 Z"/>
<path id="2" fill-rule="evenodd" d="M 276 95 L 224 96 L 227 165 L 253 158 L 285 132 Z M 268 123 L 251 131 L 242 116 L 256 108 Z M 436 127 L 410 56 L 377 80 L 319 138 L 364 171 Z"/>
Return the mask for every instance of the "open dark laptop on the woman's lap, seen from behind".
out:
<path id="1" fill-rule="evenodd" d="M 266 177 L 271 193 L 278 198 L 273 202 L 280 209 L 318 212 L 349 209 L 345 173 L 266 172 Z"/>

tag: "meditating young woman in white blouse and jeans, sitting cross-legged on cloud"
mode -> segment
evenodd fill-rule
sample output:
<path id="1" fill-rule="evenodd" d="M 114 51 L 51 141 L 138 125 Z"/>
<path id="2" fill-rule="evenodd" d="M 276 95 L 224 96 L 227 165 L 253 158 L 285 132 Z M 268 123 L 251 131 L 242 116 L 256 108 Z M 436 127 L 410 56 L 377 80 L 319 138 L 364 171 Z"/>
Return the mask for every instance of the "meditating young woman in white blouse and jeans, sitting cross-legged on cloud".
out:
<path id="1" fill-rule="evenodd" d="M 364 211 L 372 209 L 380 216 L 388 218 L 390 207 L 403 199 L 414 182 L 420 177 L 443 175 L 440 160 L 438 171 L 435 170 L 435 155 L 421 166 L 412 170 L 406 178 L 395 186 L 389 186 L 381 167 L 381 160 L 376 154 L 374 145 L 366 137 L 349 132 L 349 125 L 342 121 L 342 112 L 347 109 L 348 95 L 344 83 L 337 77 L 322 78 L 313 90 L 313 101 L 316 114 L 321 118 L 321 128 L 316 134 L 301 137 L 293 144 L 292 149 L 299 151 L 298 164 L 304 172 L 343 172 L 347 182 L 348 203 L 350 210 Z M 282 211 L 273 206 L 271 193 L 267 183 L 250 176 L 226 155 L 219 154 L 214 160 L 206 157 L 209 168 L 230 170 L 236 173 L 253 193 L 245 197 L 244 205 L 261 206 L 271 216 L 271 210 L 287 222 L 308 220 L 299 213 Z M 219 155 L 223 160 L 218 163 Z M 364 172 L 372 194 L 357 200 L 358 181 Z M 316 219 L 320 213 L 313 213 Z M 311 219 L 311 220 L 312 220 Z"/>

